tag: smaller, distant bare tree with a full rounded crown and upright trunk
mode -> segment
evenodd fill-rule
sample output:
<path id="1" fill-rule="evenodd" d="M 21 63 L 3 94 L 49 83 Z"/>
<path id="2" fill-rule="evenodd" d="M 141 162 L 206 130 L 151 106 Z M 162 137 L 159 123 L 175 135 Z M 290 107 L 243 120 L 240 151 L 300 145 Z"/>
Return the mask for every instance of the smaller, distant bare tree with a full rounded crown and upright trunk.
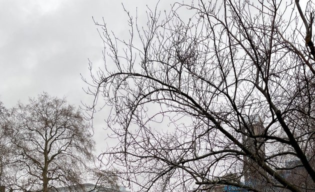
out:
<path id="1" fill-rule="evenodd" d="M 80 185 L 93 160 L 94 141 L 81 112 L 66 100 L 40 94 L 19 103 L 4 128 L 14 152 L 7 171 L 13 189 L 49 191 L 58 186 Z"/>

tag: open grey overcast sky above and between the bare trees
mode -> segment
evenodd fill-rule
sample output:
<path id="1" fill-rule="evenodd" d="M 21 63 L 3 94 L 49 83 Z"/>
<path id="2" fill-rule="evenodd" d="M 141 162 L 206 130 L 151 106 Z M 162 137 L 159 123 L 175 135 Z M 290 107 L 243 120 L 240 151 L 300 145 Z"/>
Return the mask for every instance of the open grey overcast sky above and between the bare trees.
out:
<path id="1" fill-rule="evenodd" d="M 0 100 L 6 107 L 26 103 L 45 91 L 66 96 L 69 103 L 91 102 L 80 73 L 88 77 L 88 58 L 102 63 L 103 43 L 95 20 L 104 17 L 117 35 L 126 34 L 121 3 L 140 17 L 157 0 L 0 0 Z M 171 1 L 161 0 L 169 8 Z M 106 109 L 105 109 L 106 110 Z M 109 111 L 109 110 L 108 110 Z M 94 135 L 97 152 L 105 147 L 106 112 L 98 114 Z"/>

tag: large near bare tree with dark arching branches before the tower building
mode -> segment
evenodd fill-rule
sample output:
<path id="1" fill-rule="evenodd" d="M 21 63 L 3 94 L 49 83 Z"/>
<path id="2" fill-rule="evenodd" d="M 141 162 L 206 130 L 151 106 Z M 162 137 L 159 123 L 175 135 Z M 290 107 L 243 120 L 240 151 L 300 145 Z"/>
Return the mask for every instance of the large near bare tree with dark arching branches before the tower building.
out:
<path id="1" fill-rule="evenodd" d="M 106 122 L 119 140 L 103 161 L 144 191 L 314 190 L 313 8 L 157 5 L 146 26 L 126 11 L 129 40 L 95 21 L 105 65 L 90 63 L 88 108 L 112 107 Z"/>

